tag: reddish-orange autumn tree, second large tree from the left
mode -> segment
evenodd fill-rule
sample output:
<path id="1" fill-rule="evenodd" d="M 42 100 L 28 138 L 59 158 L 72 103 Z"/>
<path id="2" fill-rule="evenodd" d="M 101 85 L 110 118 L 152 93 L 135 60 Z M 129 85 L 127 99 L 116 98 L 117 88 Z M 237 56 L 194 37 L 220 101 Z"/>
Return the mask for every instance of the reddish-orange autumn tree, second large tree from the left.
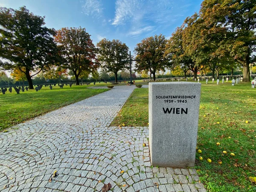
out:
<path id="1" fill-rule="evenodd" d="M 59 44 L 64 68 L 73 71 L 76 84 L 82 71 L 91 73 L 99 67 L 96 47 L 84 28 L 62 28 L 56 31 L 55 41 Z"/>

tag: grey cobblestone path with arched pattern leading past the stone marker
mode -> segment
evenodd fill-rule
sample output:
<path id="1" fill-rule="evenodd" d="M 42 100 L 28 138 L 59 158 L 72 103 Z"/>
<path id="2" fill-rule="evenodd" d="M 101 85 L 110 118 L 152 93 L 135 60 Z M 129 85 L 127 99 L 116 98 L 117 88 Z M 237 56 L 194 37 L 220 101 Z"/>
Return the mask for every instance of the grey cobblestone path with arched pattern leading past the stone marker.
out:
<path id="1" fill-rule="evenodd" d="M 94 192 L 104 183 L 113 192 L 206 191 L 195 169 L 151 167 L 147 127 L 109 127 L 134 88 L 116 86 L 0 133 L 0 191 Z"/>

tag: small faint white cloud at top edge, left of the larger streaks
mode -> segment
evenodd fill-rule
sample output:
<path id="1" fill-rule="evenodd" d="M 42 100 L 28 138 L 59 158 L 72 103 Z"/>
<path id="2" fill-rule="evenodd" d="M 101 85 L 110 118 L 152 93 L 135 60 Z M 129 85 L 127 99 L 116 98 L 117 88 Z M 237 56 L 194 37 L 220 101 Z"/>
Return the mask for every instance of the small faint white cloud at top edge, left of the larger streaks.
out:
<path id="1" fill-rule="evenodd" d="M 102 16 L 103 7 L 100 0 L 82 0 L 81 3 L 83 4 L 82 8 L 85 15 Z"/>

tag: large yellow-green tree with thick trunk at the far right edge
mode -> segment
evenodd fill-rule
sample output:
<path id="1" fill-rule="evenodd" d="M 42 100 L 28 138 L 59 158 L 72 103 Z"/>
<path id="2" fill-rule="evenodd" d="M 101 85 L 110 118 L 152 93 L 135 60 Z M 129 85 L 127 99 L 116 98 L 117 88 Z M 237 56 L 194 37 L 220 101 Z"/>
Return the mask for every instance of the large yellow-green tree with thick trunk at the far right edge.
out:
<path id="1" fill-rule="evenodd" d="M 249 64 L 256 60 L 255 10 L 253 0 L 204 0 L 200 9 L 209 28 L 208 43 L 217 47 L 216 53 L 227 53 L 241 64 L 245 82 L 250 81 Z"/>

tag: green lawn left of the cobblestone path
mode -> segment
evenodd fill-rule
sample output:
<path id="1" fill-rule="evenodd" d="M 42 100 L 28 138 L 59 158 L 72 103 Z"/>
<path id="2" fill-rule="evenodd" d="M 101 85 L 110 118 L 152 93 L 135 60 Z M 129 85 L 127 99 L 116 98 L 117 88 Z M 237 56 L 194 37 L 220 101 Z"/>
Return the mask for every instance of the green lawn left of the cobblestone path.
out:
<path id="1" fill-rule="evenodd" d="M 108 89 L 88 89 L 85 86 L 56 86 L 52 90 L 42 87 L 41 90 L 28 90 L 20 94 L 6 92 L 0 94 L 0 131 L 20 122 L 32 119 L 49 111 L 81 101 L 90 96 L 105 92 Z"/>

